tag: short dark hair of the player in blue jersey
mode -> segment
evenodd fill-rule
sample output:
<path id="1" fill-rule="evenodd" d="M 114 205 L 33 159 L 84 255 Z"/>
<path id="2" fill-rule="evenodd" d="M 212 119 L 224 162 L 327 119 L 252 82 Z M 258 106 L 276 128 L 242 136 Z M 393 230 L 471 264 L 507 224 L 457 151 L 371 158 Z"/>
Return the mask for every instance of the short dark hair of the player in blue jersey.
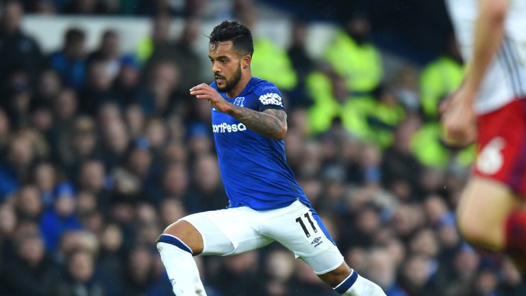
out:
<path id="1" fill-rule="evenodd" d="M 231 40 L 232 48 L 241 55 L 252 56 L 254 53 L 252 33 L 246 25 L 238 21 L 223 21 L 214 27 L 208 38 L 212 49 L 216 49 L 219 42 Z"/>

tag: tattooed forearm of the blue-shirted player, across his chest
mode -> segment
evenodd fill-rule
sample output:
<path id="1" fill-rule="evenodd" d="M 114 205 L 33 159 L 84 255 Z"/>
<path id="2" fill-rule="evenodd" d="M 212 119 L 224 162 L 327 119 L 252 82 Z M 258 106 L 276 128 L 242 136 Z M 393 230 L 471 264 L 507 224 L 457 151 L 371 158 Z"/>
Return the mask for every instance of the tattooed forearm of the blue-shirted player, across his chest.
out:
<path id="1" fill-rule="evenodd" d="M 287 114 L 284 110 L 267 109 L 264 112 L 258 112 L 234 105 L 228 114 L 247 125 L 253 132 L 275 140 L 283 140 L 285 138 Z"/>

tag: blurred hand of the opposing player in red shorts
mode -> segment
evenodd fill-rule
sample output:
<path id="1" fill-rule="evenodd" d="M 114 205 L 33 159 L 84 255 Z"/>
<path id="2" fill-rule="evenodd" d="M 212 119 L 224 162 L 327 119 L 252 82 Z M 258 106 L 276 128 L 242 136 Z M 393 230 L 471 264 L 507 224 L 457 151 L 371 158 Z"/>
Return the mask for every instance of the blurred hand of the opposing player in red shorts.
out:
<path id="1" fill-rule="evenodd" d="M 468 97 L 471 96 L 471 97 Z M 473 111 L 473 98 L 466 88 L 461 87 L 441 106 L 442 129 L 447 143 L 467 146 L 475 142 L 477 135 L 476 117 Z"/>

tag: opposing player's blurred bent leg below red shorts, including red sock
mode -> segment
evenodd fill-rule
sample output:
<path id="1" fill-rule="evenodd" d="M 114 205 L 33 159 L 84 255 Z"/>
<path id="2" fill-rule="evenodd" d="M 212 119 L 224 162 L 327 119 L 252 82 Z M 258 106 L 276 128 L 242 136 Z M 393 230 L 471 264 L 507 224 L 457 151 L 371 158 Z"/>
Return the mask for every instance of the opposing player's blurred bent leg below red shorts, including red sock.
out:
<path id="1" fill-rule="evenodd" d="M 457 210 L 458 227 L 471 244 L 504 251 L 526 271 L 526 210 L 524 201 L 495 180 L 472 177 Z"/>

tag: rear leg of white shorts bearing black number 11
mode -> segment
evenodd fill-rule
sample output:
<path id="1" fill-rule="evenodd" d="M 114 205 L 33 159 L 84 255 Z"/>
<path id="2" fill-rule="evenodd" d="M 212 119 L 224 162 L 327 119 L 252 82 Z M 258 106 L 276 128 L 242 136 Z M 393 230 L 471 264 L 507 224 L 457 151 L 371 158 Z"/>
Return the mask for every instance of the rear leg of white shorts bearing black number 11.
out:
<path id="1" fill-rule="evenodd" d="M 266 235 L 290 249 L 318 275 L 340 267 L 343 256 L 314 210 L 296 201 L 278 211 L 278 214 L 266 217 Z"/>

